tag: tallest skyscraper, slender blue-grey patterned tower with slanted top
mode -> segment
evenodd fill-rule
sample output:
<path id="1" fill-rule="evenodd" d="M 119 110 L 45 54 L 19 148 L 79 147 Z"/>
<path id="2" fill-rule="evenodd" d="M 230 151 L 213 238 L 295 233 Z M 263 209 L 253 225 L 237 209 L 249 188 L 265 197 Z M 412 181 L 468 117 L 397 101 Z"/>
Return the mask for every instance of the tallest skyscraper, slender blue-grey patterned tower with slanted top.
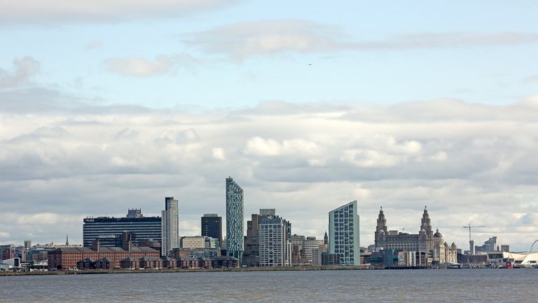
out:
<path id="1" fill-rule="evenodd" d="M 229 256 L 241 259 L 243 256 L 243 189 L 226 178 L 226 251 Z"/>

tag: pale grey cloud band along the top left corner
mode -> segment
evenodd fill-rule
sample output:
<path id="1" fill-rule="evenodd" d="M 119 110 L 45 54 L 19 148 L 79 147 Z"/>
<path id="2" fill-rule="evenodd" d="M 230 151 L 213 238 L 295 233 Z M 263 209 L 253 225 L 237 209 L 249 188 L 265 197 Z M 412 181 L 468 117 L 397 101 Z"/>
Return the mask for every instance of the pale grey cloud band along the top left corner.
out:
<path id="1" fill-rule="evenodd" d="M 0 24 L 117 22 L 135 18 L 173 18 L 234 4 L 235 0 L 18 0 L 0 4 Z"/>

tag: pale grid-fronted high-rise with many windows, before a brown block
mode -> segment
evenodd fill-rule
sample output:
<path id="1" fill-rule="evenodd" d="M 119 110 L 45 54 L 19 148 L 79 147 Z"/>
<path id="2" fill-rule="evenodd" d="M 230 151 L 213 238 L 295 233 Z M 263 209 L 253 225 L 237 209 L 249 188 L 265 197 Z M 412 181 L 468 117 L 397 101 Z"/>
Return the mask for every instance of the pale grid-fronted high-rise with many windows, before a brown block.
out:
<path id="1" fill-rule="evenodd" d="M 260 216 L 258 241 L 261 267 L 291 265 L 291 224 L 277 215 Z"/>

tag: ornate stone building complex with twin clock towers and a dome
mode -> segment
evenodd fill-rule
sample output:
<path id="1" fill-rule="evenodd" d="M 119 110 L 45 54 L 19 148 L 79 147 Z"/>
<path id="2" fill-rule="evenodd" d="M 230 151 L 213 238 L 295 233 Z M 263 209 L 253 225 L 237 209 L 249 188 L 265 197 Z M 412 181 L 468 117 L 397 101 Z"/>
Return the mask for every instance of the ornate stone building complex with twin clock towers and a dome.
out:
<path id="1" fill-rule="evenodd" d="M 420 220 L 418 234 L 409 234 L 397 230 L 387 230 L 387 220 L 383 208 L 379 211 L 378 224 L 375 227 L 375 250 L 401 250 L 403 252 L 432 253 L 434 261 L 439 263 L 456 263 L 457 248 L 455 243 L 448 246 L 443 241 L 439 229 L 434 234 L 428 210 L 425 207 Z"/>

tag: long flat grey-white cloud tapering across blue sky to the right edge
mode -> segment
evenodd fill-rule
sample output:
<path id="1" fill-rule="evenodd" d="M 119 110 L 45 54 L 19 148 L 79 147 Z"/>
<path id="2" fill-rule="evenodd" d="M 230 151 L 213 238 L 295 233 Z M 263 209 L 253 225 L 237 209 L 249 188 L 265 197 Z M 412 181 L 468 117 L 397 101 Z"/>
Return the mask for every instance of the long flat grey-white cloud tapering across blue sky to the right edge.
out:
<path id="1" fill-rule="evenodd" d="M 342 29 L 309 20 L 269 20 L 196 32 L 184 42 L 207 53 L 241 61 L 251 56 L 286 53 L 510 46 L 537 43 L 538 33 L 432 32 L 361 41 Z"/>

